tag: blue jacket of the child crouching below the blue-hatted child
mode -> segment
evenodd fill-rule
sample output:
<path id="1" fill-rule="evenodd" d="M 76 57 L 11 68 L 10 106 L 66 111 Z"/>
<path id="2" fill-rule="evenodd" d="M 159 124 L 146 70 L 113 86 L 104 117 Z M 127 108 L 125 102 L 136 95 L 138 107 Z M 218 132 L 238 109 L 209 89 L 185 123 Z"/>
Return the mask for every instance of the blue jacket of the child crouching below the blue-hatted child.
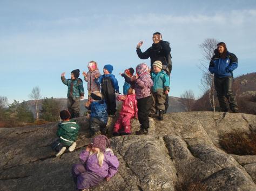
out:
<path id="1" fill-rule="evenodd" d="M 107 123 L 107 106 L 104 100 L 93 101 L 88 109 L 91 111 L 90 119 L 97 118 Z"/>

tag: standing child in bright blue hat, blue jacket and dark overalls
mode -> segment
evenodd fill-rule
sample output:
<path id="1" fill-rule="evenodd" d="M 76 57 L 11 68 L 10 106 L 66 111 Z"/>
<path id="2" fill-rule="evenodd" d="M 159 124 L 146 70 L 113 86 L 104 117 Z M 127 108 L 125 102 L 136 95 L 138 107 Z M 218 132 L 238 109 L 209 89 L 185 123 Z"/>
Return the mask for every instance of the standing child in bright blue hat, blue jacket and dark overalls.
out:
<path id="1" fill-rule="evenodd" d="M 102 94 L 106 101 L 107 113 L 109 115 L 116 115 L 116 93 L 119 93 L 118 81 L 112 74 L 113 66 L 107 64 L 103 68 L 102 76 L 95 76 L 97 84 L 102 86 Z"/>

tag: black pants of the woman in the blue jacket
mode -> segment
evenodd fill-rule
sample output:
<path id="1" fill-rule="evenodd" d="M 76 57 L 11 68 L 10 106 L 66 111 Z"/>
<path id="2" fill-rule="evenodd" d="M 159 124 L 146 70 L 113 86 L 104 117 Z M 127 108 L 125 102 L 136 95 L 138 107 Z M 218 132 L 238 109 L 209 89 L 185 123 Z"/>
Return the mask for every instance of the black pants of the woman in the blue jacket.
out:
<path id="1" fill-rule="evenodd" d="M 219 106 L 223 112 L 228 111 L 228 104 L 230 105 L 231 111 L 234 112 L 238 110 L 237 102 L 235 101 L 234 93 L 232 91 L 232 80 L 233 77 L 214 77 L 214 86 L 217 92 Z"/>

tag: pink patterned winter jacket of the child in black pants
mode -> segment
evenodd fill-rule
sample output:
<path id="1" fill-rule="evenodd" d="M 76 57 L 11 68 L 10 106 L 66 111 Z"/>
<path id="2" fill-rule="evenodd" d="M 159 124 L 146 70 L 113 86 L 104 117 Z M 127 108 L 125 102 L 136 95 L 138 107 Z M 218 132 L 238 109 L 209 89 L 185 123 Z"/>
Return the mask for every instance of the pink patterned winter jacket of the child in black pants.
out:
<path id="1" fill-rule="evenodd" d="M 136 99 L 149 97 L 151 95 L 150 89 L 152 86 L 153 81 L 149 73 L 143 73 L 143 75 L 140 75 L 134 84 Z"/>

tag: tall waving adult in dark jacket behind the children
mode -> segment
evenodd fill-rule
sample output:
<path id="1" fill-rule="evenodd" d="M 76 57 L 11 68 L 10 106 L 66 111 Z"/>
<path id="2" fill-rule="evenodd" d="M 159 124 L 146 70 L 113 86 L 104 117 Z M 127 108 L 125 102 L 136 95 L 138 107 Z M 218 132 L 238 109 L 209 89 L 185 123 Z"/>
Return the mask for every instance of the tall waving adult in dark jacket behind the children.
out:
<path id="1" fill-rule="evenodd" d="M 166 71 L 166 73 L 170 76 L 171 71 L 172 71 L 172 60 L 171 60 L 171 47 L 170 43 L 167 41 L 164 41 L 162 39 L 162 35 L 160 32 L 155 32 L 153 33 L 153 44 L 149 49 L 147 49 L 145 52 L 142 52 L 140 50 L 140 47 L 143 45 L 143 41 L 140 41 L 137 44 L 137 54 L 140 59 L 148 59 L 150 57 L 150 66 L 152 70 L 152 65 L 154 61 L 160 60 L 161 63 L 163 64 L 163 70 Z M 166 113 L 167 108 L 169 107 L 169 95 L 166 94 L 166 99 L 165 99 L 165 111 Z"/>

